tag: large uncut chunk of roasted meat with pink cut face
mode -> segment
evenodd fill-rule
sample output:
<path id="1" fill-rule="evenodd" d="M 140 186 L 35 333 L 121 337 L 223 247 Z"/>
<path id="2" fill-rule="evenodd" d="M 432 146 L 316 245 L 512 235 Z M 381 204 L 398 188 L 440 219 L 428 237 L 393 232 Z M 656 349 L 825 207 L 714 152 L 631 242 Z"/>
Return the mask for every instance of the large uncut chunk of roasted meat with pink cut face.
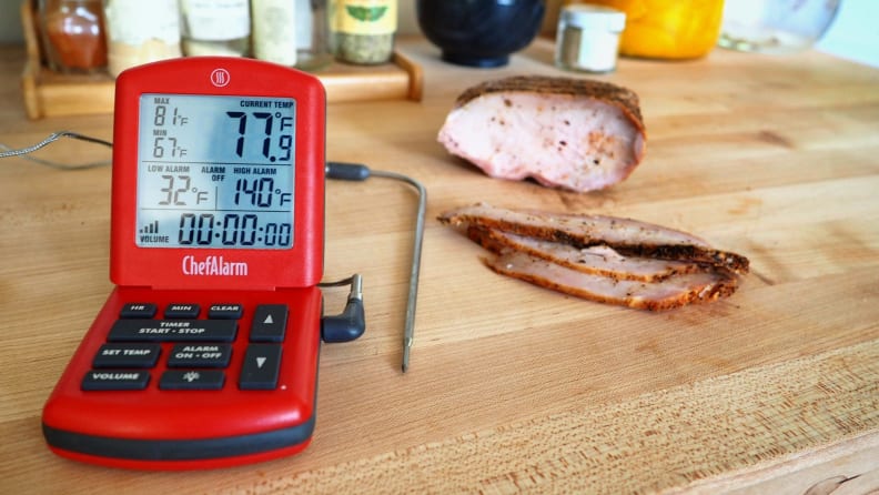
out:
<path id="1" fill-rule="evenodd" d="M 438 141 L 489 176 L 585 192 L 625 180 L 644 155 L 646 134 L 633 91 L 531 75 L 466 90 Z"/>

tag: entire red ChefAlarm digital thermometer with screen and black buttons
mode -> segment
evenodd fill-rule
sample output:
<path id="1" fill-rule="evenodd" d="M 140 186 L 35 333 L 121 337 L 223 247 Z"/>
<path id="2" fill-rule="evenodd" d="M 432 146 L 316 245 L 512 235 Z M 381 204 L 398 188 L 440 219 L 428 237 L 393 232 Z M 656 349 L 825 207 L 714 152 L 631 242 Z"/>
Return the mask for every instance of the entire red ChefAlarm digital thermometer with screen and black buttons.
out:
<path id="1" fill-rule="evenodd" d="M 175 59 L 120 74 L 115 289 L 46 404 L 52 451 L 184 469 L 309 444 L 325 108 L 316 78 L 251 59 Z"/>

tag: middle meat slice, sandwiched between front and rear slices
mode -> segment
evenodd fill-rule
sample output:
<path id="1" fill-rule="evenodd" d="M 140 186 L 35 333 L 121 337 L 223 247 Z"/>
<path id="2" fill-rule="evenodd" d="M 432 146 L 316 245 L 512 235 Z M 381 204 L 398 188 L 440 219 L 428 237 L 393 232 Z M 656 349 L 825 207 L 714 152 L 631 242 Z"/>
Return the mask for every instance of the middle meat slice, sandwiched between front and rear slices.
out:
<path id="1" fill-rule="evenodd" d="M 467 236 L 488 251 L 498 254 L 518 251 L 578 272 L 616 280 L 654 282 L 675 274 L 710 270 L 693 262 L 624 256 L 606 245 L 575 248 L 569 244 L 526 238 L 494 229 L 471 226 L 467 229 Z"/>

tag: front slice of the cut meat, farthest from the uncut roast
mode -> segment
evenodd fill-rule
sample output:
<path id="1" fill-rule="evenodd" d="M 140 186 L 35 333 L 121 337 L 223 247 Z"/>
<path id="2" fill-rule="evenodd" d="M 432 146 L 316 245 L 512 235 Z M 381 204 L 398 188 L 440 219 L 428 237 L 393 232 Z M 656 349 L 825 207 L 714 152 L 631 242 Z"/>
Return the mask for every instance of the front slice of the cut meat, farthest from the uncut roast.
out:
<path id="1" fill-rule="evenodd" d="M 714 301 L 731 294 L 738 286 L 738 279 L 725 271 L 675 274 L 658 282 L 640 282 L 583 273 L 517 251 L 484 261 L 504 275 L 590 301 L 638 310 L 661 311 Z"/>

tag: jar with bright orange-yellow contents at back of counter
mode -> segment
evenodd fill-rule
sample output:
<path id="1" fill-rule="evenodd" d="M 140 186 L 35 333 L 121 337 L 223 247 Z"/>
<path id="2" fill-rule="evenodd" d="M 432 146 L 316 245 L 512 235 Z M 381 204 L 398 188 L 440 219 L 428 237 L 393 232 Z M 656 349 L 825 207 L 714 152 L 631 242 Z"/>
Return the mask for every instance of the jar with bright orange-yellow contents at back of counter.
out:
<path id="1" fill-rule="evenodd" d="M 738 1 L 738 0 L 731 0 Z M 724 0 L 589 0 L 626 12 L 619 53 L 650 59 L 697 59 L 717 43 Z"/>

